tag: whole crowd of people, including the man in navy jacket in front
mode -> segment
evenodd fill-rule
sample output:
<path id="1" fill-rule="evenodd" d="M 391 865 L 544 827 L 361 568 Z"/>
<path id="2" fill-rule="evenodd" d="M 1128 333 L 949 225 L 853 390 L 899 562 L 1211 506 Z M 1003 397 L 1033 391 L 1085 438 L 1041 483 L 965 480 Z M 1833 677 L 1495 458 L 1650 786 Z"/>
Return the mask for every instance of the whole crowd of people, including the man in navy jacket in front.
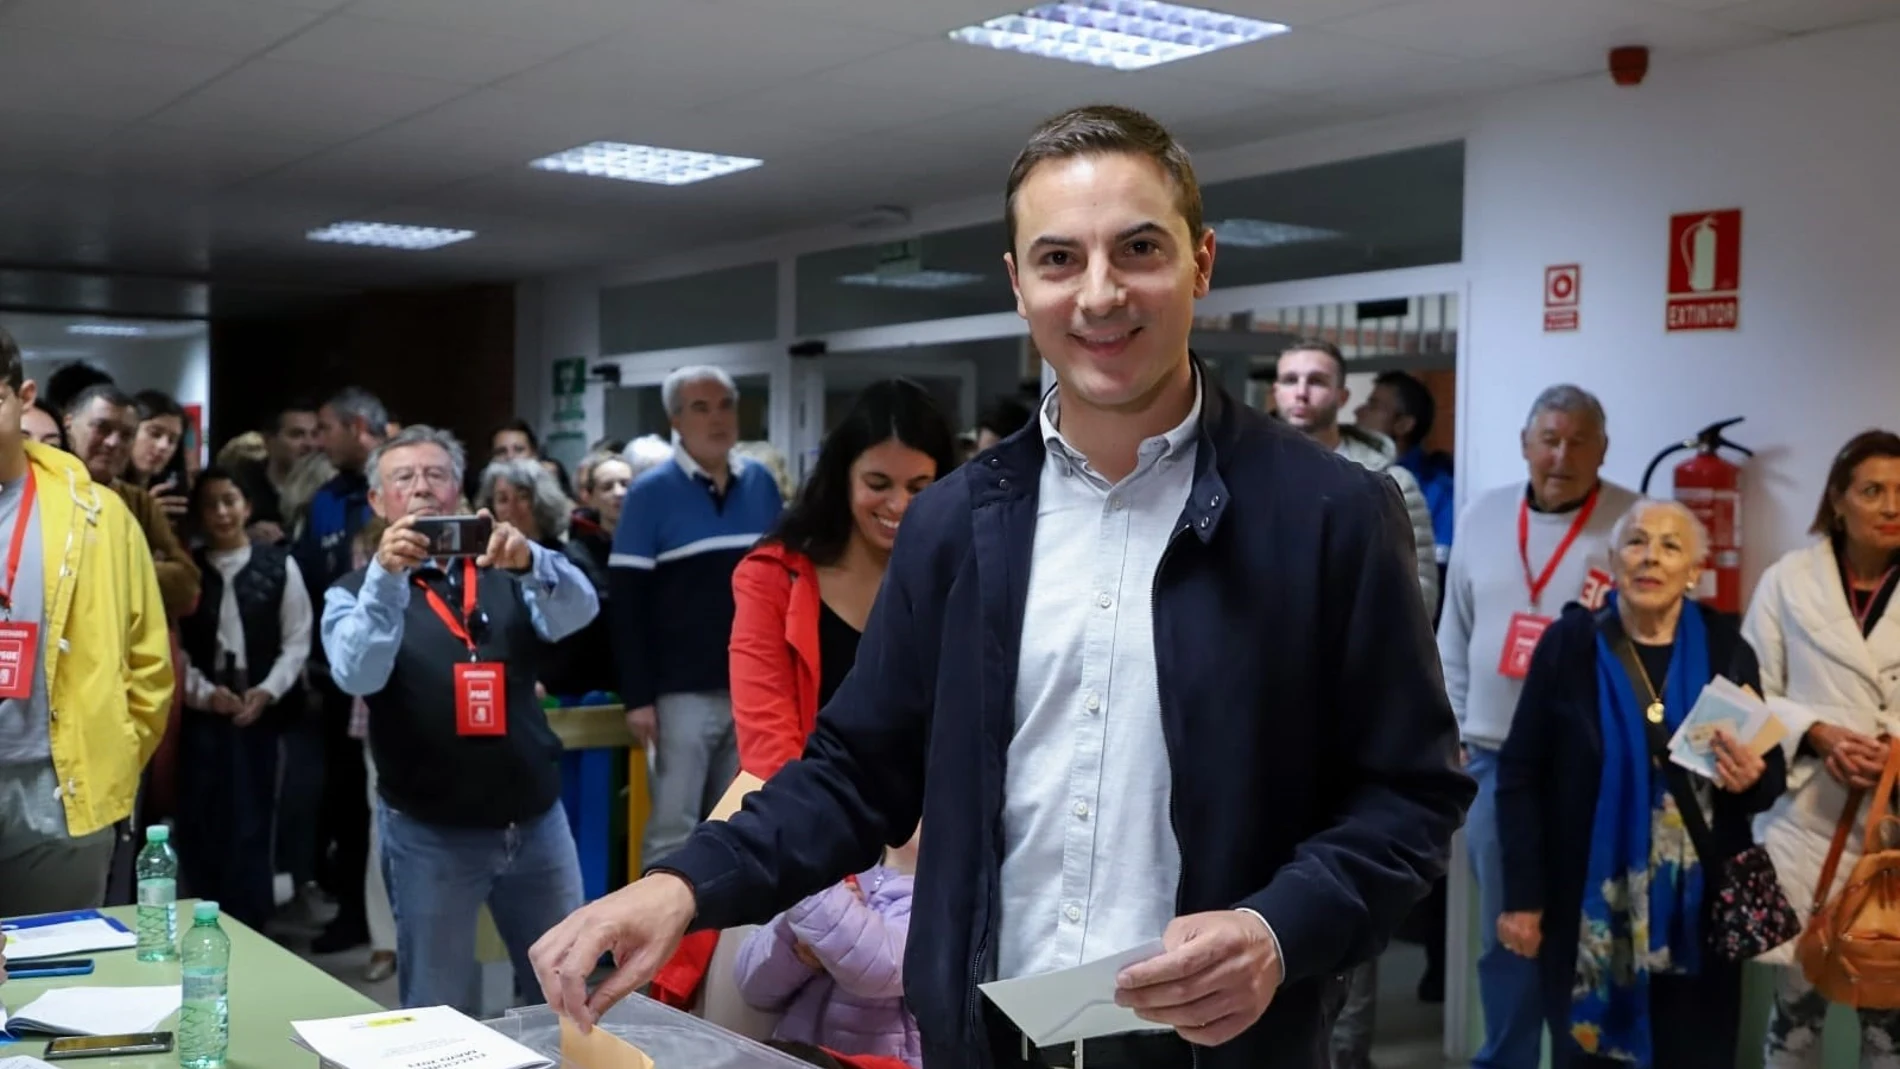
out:
<path id="1" fill-rule="evenodd" d="M 1841 448 L 1737 621 L 1695 600 L 1695 515 L 1602 478 L 1577 385 L 1455 516 L 1417 378 L 1345 423 L 1349 361 L 1311 338 L 1271 414 L 1231 397 L 1188 351 L 1216 247 L 1153 120 L 1045 123 L 1007 220 L 1056 387 L 960 435 L 874 384 L 796 488 L 716 366 L 667 378 L 667 437 L 572 473 L 526 422 L 471 467 L 359 387 L 200 471 L 177 401 L 84 365 L 42 389 L 0 334 L 0 644 L 28 651 L 0 670 L 0 915 L 124 896 L 163 820 L 245 923 L 327 889 L 314 949 L 369 944 L 403 1004 L 477 1010 L 486 906 L 519 993 L 581 1027 L 650 982 L 692 1006 L 756 925 L 730 982 L 817 1063 L 1366 1069 L 1421 900 L 1442 991 L 1463 826 L 1474 1065 L 1545 1039 L 1560 1067 L 1731 1065 L 1727 862 L 1759 849 L 1807 915 L 1889 767 L 1900 437 Z M 481 545 L 431 522 L 471 513 Z M 1786 741 L 1718 731 L 1691 775 L 1659 754 L 1718 676 Z M 652 767 L 648 875 L 587 904 L 562 697 L 618 701 Z M 709 822 L 741 771 L 764 786 Z M 1117 980 L 1146 1031 L 1037 1048 L 977 997 L 1157 936 Z M 1746 957 L 1782 966 L 1767 1063 L 1814 1069 L 1828 997 L 1792 940 Z M 1892 1060 L 1900 1014 L 1860 1027 Z"/>

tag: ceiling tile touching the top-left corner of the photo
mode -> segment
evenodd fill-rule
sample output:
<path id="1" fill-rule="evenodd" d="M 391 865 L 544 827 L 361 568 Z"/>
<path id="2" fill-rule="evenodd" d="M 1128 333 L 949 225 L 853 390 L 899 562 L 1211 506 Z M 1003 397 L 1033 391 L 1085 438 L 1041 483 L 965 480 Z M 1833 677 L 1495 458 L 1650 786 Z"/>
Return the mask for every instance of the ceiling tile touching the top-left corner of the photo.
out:
<path id="1" fill-rule="evenodd" d="M 251 55 L 319 17 L 245 0 L 15 0 L 0 9 L 0 32 L 23 27 Z"/>

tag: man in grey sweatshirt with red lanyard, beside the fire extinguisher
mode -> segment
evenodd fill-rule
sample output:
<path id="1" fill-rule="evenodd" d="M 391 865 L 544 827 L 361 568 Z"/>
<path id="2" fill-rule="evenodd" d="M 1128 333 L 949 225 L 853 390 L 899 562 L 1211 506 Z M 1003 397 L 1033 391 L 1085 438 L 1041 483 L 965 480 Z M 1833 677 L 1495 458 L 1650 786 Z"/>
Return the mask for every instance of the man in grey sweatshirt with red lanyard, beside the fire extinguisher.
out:
<path id="1" fill-rule="evenodd" d="M 1543 627 L 1566 602 L 1594 608 L 1609 592 L 1609 530 L 1636 501 L 1636 494 L 1598 478 L 1609 435 L 1604 406 L 1588 391 L 1552 385 L 1539 393 L 1522 444 L 1530 482 L 1486 490 L 1459 515 L 1438 619 L 1438 659 L 1465 741 L 1465 771 L 1478 780 L 1465 845 L 1478 881 L 1486 1035 L 1472 1069 L 1537 1065 L 1543 1029 L 1537 963 L 1497 942 L 1497 750 L 1510 735 Z"/>

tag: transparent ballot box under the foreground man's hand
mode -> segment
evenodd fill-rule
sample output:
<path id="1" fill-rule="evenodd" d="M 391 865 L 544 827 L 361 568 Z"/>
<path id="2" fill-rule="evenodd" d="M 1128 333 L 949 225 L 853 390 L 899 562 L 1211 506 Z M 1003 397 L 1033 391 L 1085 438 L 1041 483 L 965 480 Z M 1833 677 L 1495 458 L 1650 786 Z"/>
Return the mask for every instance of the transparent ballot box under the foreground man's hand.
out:
<path id="1" fill-rule="evenodd" d="M 509 1010 L 507 1016 L 483 1023 L 560 1065 L 560 1018 L 547 1006 Z M 654 1060 L 654 1069 L 811 1069 L 796 1058 L 642 995 L 631 995 L 608 1010 L 598 1027 L 644 1050 Z"/>

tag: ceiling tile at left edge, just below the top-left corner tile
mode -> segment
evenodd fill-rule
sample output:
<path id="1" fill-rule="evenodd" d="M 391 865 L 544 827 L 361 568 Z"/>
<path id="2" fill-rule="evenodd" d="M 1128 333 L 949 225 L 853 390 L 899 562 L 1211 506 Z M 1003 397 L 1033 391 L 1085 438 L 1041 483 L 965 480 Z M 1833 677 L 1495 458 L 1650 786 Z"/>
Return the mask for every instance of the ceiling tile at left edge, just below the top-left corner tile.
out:
<path id="1" fill-rule="evenodd" d="M 21 110 L 133 120 L 232 63 L 217 51 L 10 28 L 0 32 L 0 101 Z"/>

